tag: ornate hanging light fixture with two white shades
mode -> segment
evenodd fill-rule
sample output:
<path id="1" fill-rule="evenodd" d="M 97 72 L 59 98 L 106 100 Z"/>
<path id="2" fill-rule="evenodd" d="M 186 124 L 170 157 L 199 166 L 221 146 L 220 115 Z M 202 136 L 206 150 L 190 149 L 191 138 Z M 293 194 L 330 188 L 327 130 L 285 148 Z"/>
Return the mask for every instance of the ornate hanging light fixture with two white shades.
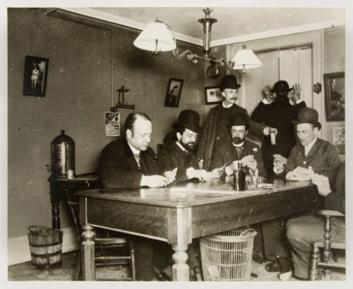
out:
<path id="1" fill-rule="evenodd" d="M 217 22 L 217 19 L 210 16 L 212 11 L 210 8 L 203 9 L 205 16 L 198 19 L 198 22 L 203 25 L 203 56 L 193 53 L 189 49 L 180 53 L 172 28 L 160 20 L 156 20 L 155 23 L 148 23 L 142 33 L 133 42 L 133 45 L 140 49 L 152 51 L 152 54 L 155 55 L 158 52 L 172 51 L 175 59 L 186 57 L 193 61 L 193 63 L 197 63 L 199 59 L 202 59 L 203 61 L 210 62 L 213 66 L 222 66 L 229 70 L 241 69 L 244 72 L 245 69 L 253 69 L 261 66 L 262 64 L 258 57 L 250 49 L 246 49 L 245 45 L 235 45 L 233 47 L 233 52 L 235 48 L 241 47 L 241 49 L 232 57 L 232 61 L 227 61 L 225 58 L 217 59 L 210 55 L 212 25 Z"/>

